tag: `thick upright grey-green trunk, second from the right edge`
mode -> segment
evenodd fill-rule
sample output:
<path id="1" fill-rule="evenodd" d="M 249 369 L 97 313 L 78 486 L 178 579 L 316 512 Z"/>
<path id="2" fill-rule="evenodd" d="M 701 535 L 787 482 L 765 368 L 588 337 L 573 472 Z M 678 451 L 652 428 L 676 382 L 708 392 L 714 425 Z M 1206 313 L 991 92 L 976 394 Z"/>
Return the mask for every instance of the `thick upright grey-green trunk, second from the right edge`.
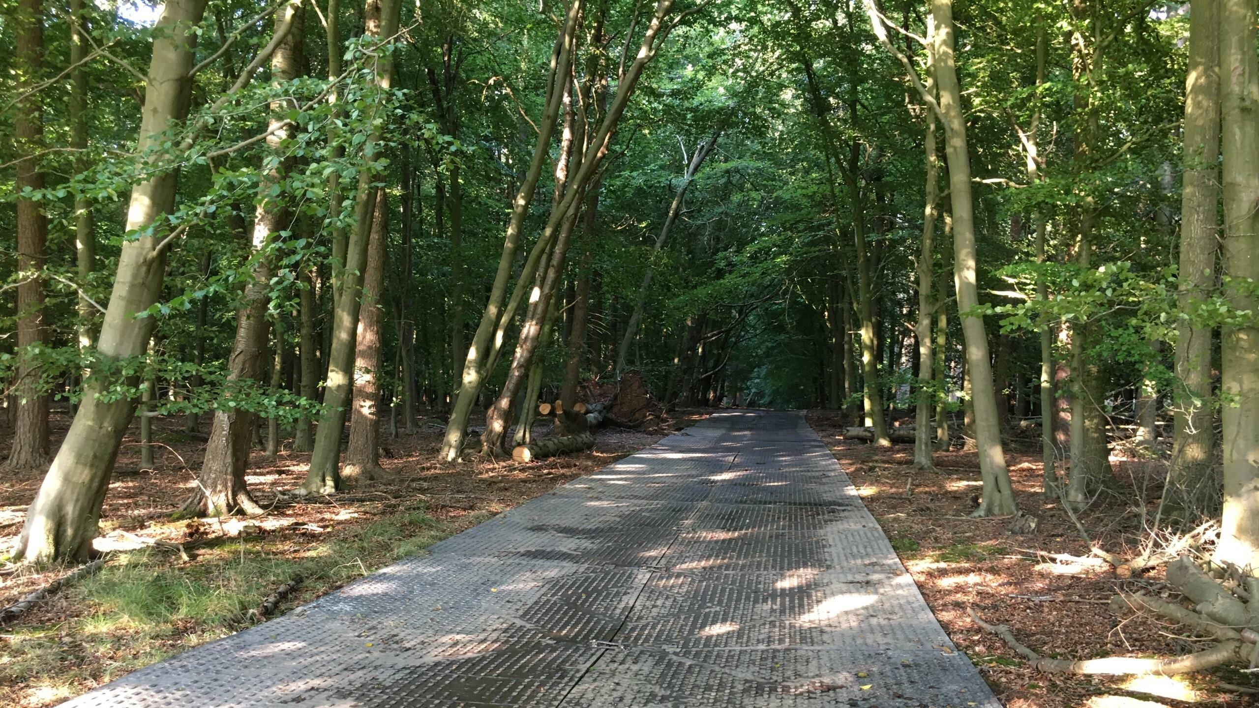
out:
<path id="1" fill-rule="evenodd" d="M 1215 414 L 1211 404 L 1212 328 L 1196 311 L 1215 288 L 1220 237 L 1220 4 L 1190 13 L 1185 81 L 1183 191 L 1177 306 L 1188 317 L 1176 328 L 1172 460 L 1165 496 L 1186 511 L 1206 511 L 1212 496 Z"/>

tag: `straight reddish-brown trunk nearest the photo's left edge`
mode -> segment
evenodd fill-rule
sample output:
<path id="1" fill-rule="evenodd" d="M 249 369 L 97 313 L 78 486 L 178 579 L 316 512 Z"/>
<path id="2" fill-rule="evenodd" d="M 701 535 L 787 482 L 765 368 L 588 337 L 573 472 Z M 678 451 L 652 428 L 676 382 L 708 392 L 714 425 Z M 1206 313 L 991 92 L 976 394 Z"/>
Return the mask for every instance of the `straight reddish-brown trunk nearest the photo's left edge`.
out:
<path id="1" fill-rule="evenodd" d="M 40 0 L 21 0 L 16 13 L 19 93 L 26 97 L 14 111 L 14 137 L 26 159 L 18 163 L 15 188 L 40 190 L 44 175 L 35 155 L 44 144 L 42 93 L 31 91 L 44 63 L 44 10 Z M 18 370 L 13 399 L 18 404 L 9 448 L 10 469 L 48 464 L 48 392 L 40 382 L 39 349 L 48 344 L 44 312 L 44 261 L 48 256 L 48 218 L 43 204 L 18 198 Z"/>

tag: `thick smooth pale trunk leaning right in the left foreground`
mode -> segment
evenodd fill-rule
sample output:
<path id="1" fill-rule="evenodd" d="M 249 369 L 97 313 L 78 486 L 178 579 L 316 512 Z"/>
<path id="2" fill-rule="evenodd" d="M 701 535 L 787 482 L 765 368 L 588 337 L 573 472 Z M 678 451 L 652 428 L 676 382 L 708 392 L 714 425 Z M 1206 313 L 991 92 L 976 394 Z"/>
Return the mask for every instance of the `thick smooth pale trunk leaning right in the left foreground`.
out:
<path id="1" fill-rule="evenodd" d="M 206 0 L 167 0 L 154 31 L 152 60 L 141 113 L 136 152 L 160 147 L 165 131 L 188 115 L 195 28 Z M 166 268 L 161 228 L 149 231 L 175 205 L 176 173 L 157 170 L 131 190 L 126 231 L 137 234 L 122 242 L 118 272 L 104 314 L 97 354 L 104 362 L 122 362 L 145 354 L 152 317 L 137 317 L 161 295 Z M 135 397 L 101 396 L 113 384 L 107 372 L 89 375 L 83 401 L 26 513 L 13 557 L 24 561 L 86 558 L 92 551 L 101 504 L 113 472 L 118 446 L 136 411 Z M 128 377 L 127 385 L 136 384 Z"/>

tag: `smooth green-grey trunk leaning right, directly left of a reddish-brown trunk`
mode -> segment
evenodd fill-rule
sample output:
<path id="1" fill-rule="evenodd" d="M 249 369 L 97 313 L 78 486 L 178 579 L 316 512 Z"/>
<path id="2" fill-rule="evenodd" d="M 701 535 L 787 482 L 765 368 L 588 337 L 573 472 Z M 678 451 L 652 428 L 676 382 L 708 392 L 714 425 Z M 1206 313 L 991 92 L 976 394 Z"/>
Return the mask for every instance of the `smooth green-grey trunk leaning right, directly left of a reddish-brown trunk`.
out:
<path id="1" fill-rule="evenodd" d="M 399 0 L 368 0 L 366 34 L 381 42 L 393 42 L 398 33 Z M 375 84 L 384 94 L 393 82 L 393 55 L 381 53 L 375 60 Z M 383 120 L 383 118 L 381 118 Z M 376 125 L 363 144 L 364 165 L 359 173 L 355 222 L 345 249 L 345 268 L 334 297 L 332 344 L 324 385 L 324 409 L 315 431 L 315 450 L 306 480 L 293 490 L 307 494 L 331 494 L 341 486 L 341 432 L 345 428 L 345 411 L 350 404 L 351 377 L 354 374 L 355 333 L 361 309 L 363 275 L 366 270 L 368 244 L 371 239 L 371 222 L 375 213 L 375 180 L 378 163 L 383 157 L 383 125 Z"/>

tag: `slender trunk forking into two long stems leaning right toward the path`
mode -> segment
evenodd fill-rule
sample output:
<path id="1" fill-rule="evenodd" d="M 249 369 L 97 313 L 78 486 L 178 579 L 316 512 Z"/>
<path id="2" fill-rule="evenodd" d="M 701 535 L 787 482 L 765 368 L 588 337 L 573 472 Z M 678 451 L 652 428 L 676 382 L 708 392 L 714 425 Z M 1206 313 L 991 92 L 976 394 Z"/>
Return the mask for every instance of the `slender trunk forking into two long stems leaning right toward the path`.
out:
<path id="1" fill-rule="evenodd" d="M 551 111 L 551 106 L 548 106 L 548 113 L 544 115 L 544 121 L 540 123 L 543 126 L 540 131 L 543 135 L 539 135 L 536 150 L 541 151 L 544 155 L 553 132 L 551 125 L 558 115 L 558 101 L 563 94 L 563 83 L 568 76 L 567 67 L 569 67 L 569 52 L 575 47 L 574 30 L 577 25 L 577 14 L 579 14 L 580 10 L 579 5 L 579 0 L 574 0 L 572 3 L 570 19 L 565 23 L 565 30 L 562 34 L 560 42 L 556 43 L 559 45 L 556 54 L 560 59 L 556 60 L 554 66 L 564 67 L 565 69 L 559 74 L 553 73 L 553 81 L 550 82 L 553 86 L 548 87 L 548 96 L 553 96 L 556 103 L 554 106 L 555 111 Z M 531 292 L 533 288 L 530 287 L 530 283 L 533 282 L 534 275 L 539 271 L 541 258 L 551 251 L 551 243 L 555 241 L 556 234 L 563 231 L 562 227 L 568 222 L 569 213 L 575 212 L 573 209 L 574 203 L 579 202 L 587 183 L 602 164 L 603 156 L 607 154 L 608 142 L 616 131 L 617 122 L 621 120 L 626 105 L 628 103 L 638 79 L 642 77 L 643 69 L 652 60 L 652 58 L 655 58 L 660 45 L 663 44 L 670 30 L 674 28 L 674 24 L 665 21 L 665 18 L 672 10 L 672 6 L 674 0 L 656 1 L 656 9 L 652 13 L 647 29 L 643 31 L 638 53 L 635 55 L 633 63 L 630 64 L 624 74 L 618 81 L 612 103 L 607 113 L 603 116 L 603 120 L 598 122 L 597 130 L 590 131 L 594 137 L 587 142 L 587 154 L 582 160 L 582 166 L 577 171 L 577 175 L 569 179 L 563 202 L 556 208 L 551 209 L 541 236 L 538 238 L 536 244 L 530 251 L 529 257 L 525 260 L 525 263 L 520 270 L 516 287 L 512 291 L 510 300 L 507 300 L 506 306 L 504 306 L 502 302 L 506 296 L 507 280 L 514 270 L 512 266 L 519 242 L 520 223 L 524 219 L 524 213 L 521 212 L 517 219 L 517 210 L 514 209 L 511 223 L 507 229 L 507 241 L 504 246 L 504 260 L 499 262 L 499 272 L 495 275 L 485 315 L 481 319 L 481 325 L 473 335 L 472 346 L 468 348 L 468 358 L 463 367 L 463 384 L 460 388 L 458 397 L 454 402 L 454 409 L 451 412 L 451 420 L 446 427 L 446 437 L 442 441 L 442 450 L 439 454 L 443 460 L 454 460 L 462 450 L 468 414 L 472 411 L 472 404 L 481 393 L 481 385 L 485 383 L 486 374 L 494 370 L 494 364 L 497 362 L 502 341 L 506 336 L 507 326 L 515 317 L 516 310 L 524 301 L 525 295 Z M 568 38 L 574 39 L 569 40 Z M 550 88 L 554 88 L 554 94 L 551 94 Z M 544 135 L 545 140 L 543 140 Z M 528 189 L 525 189 L 525 186 L 521 188 L 521 194 L 528 194 L 529 199 L 533 197 L 534 186 L 538 183 L 538 174 L 541 171 L 541 160 L 535 160 L 535 163 L 536 170 L 534 169 L 535 165 L 531 164 L 530 171 L 525 178 Z M 529 184 L 530 181 L 533 184 Z M 528 210 L 529 200 L 521 199 L 520 195 L 517 195 L 517 205 L 521 203 L 524 209 Z M 570 231 L 572 224 L 568 228 Z"/>

